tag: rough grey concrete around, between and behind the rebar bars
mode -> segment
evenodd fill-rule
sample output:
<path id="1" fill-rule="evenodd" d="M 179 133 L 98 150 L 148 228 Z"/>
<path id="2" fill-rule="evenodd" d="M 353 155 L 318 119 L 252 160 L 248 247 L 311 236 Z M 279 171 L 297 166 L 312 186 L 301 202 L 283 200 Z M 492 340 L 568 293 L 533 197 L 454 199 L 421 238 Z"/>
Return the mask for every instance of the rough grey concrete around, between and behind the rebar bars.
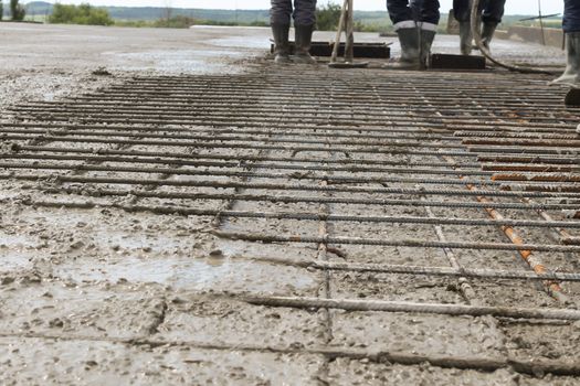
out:
<path id="1" fill-rule="evenodd" d="M 330 33 L 316 33 L 330 40 Z M 123 85 L 134 75 L 242 74 L 255 71 L 253 57 L 263 57 L 270 46 L 265 29 L 194 28 L 149 30 L 0 24 L 3 52 L 0 56 L 0 112 L 13 116 L 12 106 L 30 100 L 60 100 L 113 85 Z M 357 41 L 381 41 L 375 34 L 357 34 Z M 392 39 L 383 39 L 392 41 Z M 437 36 L 434 50 L 457 51 L 456 36 Z M 561 65 L 556 49 L 496 41 L 493 50 L 502 58 L 541 65 Z M 398 54 L 393 45 L 393 54 Z M 246 62 L 252 62 L 247 64 Z M 261 67 L 263 69 L 263 67 Z M 324 76 L 335 76 L 320 72 Z M 453 76 L 453 75 L 442 75 Z M 482 75 L 492 87 L 493 74 Z M 370 78 L 370 77 L 369 77 Z M 540 79 L 541 82 L 545 79 Z M 540 82 L 538 81 L 538 82 Z M 320 98 L 323 97 L 320 93 Z M 260 114 L 292 111 L 263 108 Z M 18 114 L 18 112 L 15 112 Z M 96 112 L 95 112 L 96 114 Z M 247 111 L 232 111 L 245 119 Z M 413 112 L 411 112 L 413 114 Z M 345 114 L 342 118 L 349 118 Z M 313 119 L 316 117 L 313 117 Z M 422 118 L 416 121 L 421 122 Z M 74 121 L 74 119 L 71 119 Z M 424 119 L 425 126 L 429 119 Z M 297 124 L 297 126 L 302 122 Z M 384 126 L 391 122 L 387 119 Z M 170 125 L 164 125 L 171 128 Z M 179 125 L 176 125 L 179 128 Z M 214 128 L 190 125 L 188 129 L 213 133 Z M 324 128 L 321 129 L 324 131 Z M 134 131 L 134 128 L 127 129 Z M 257 136 L 256 142 L 265 140 Z M 294 139 L 300 139 L 296 135 Z M 27 140 L 27 143 L 36 143 Z M 41 144 L 42 140 L 35 141 Z M 19 143 L 24 143 L 22 140 Z M 12 142 L 10 142 L 12 143 Z M 46 141 L 50 143 L 50 140 Z M 9 141 L 0 137 L 0 144 Z M 68 149 L 123 150 L 110 143 L 91 147 L 67 143 Z M 2 149 L 4 152 L 6 149 Z M 131 150 L 150 151 L 150 146 Z M 175 152 L 173 147 L 152 147 Z M 181 149 L 181 156 L 264 156 L 260 149 Z M 6 150 L 8 152 L 8 150 Z M 275 157 L 294 157 L 280 150 Z M 303 152 L 324 160 L 346 157 L 337 152 Z M 441 162 L 440 157 L 359 154 L 378 162 Z M 24 162 L 24 161 L 23 161 Z M 76 162 L 62 161 L 74 169 Z M 114 161 L 103 162 L 115 165 Z M 139 167 L 139 163 L 125 163 Z M 188 170 L 190 167 L 183 167 Z M 220 170 L 220 169 L 208 169 Z M 246 171 L 242 164 L 231 170 Z M 298 175 L 270 179 L 271 183 L 299 183 Z M 67 202 L 89 200 L 96 206 L 45 207 L 27 201 L 62 200 L 63 195 L 42 189 L 74 183 L 0 180 L 0 384 L 6 385 L 578 385 L 578 377 L 542 372 L 521 374 L 510 366 L 495 371 L 434 366 L 429 363 L 399 364 L 377 357 L 377 352 L 405 353 L 430 357 L 506 361 L 506 358 L 561 361 L 578 367 L 579 323 L 538 325 L 531 322 L 491 317 L 449 317 L 413 313 L 382 313 L 313 310 L 251 305 L 241 297 L 285 296 L 392 301 L 465 303 L 457 280 L 408 275 L 327 272 L 304 268 L 319 257 L 312 244 L 260 244 L 231 240 L 212 234 L 213 216 L 154 214 L 110 207 L 134 203 L 135 197 L 70 195 Z M 288 172 L 289 173 L 289 172 Z M 89 178 L 115 176 L 107 171 L 73 171 Z M 359 173 L 376 178 L 377 173 Z M 379 174 L 380 175 L 380 174 Z M 403 176 L 392 173 L 390 176 Z M 150 173 L 130 173 L 147 181 Z M 419 175 L 432 178 L 431 175 Z M 196 176 L 166 178 L 194 181 Z M 215 181 L 246 181 L 244 178 Z M 254 181 L 261 181 L 254 179 Z M 349 184 L 357 186 L 357 184 Z M 379 183 L 360 186 L 384 187 Z M 396 183 L 389 187 L 399 187 Z M 401 185 L 402 186 L 402 185 Z M 433 187 L 445 185 L 433 184 Z M 86 189 L 93 187 L 89 185 Z M 104 184 L 99 189 L 133 189 Z M 149 185 L 140 192 L 154 190 Z M 157 192 L 207 193 L 205 187 L 158 186 Z M 228 187 L 220 193 L 239 194 Z M 246 189 L 244 194 L 283 195 L 282 190 Z M 294 196 L 312 196 L 304 191 Z M 335 197 L 349 197 L 337 193 Z M 357 194 L 381 199 L 382 194 Z M 399 199 L 404 199 L 401 195 Z M 426 197 L 426 200 L 447 200 Z M 473 197 L 454 197 L 473 201 Z M 497 199 L 502 202 L 502 199 Z M 165 205 L 158 199 L 139 199 L 143 205 Z M 226 200 L 175 200 L 175 206 L 219 210 Z M 107 206 L 109 205 L 109 206 Z M 317 212 L 317 203 L 240 201 L 236 211 Z M 423 207 L 333 204 L 333 212 L 383 216 L 425 216 Z M 483 210 L 432 207 L 434 215 L 486 219 Z M 507 217 L 523 218 L 521 211 L 505 211 Z M 537 216 L 530 218 L 537 219 Z M 559 219 L 559 218 L 557 218 Z M 265 230 L 270 234 L 313 236 L 319 222 L 262 218 L 222 218 L 221 230 Z M 337 222 L 331 232 L 354 237 L 436 239 L 432 225 Z M 498 228 L 465 228 L 446 225 L 452 242 L 506 243 Z M 526 229 L 526 239 L 545 240 L 542 229 Z M 461 234 L 461 237 L 460 237 Z M 454 250 L 470 268 L 521 269 L 514 251 Z M 579 271 L 577 259 L 559 253 L 538 254 L 555 267 Z M 577 255 L 573 257 L 578 258 Z M 337 245 L 328 251 L 330 261 L 430 265 L 449 267 L 443 249 Z M 558 307 L 534 282 L 472 280 L 484 305 Z M 568 285 L 566 293 L 578 300 L 580 288 Z M 330 322 L 329 322 L 330 321 Z M 333 352 L 329 354 L 329 352 Z M 338 353 L 338 354 L 336 354 Z M 362 354 L 361 354 L 362 353 Z M 449 368 L 451 367 L 451 368 Z"/>

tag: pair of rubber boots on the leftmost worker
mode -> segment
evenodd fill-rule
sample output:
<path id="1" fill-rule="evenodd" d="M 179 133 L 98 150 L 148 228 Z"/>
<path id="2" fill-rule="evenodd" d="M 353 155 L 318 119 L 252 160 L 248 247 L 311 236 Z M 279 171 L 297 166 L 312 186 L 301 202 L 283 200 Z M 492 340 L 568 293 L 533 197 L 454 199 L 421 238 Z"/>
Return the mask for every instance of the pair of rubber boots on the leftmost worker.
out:
<path id="1" fill-rule="evenodd" d="M 316 60 L 310 56 L 310 45 L 313 41 L 314 25 L 295 24 L 295 44 L 294 57 L 289 56 L 288 42 L 289 24 L 272 24 L 272 34 L 274 35 L 274 62 L 275 63 L 300 63 L 314 64 Z"/>

